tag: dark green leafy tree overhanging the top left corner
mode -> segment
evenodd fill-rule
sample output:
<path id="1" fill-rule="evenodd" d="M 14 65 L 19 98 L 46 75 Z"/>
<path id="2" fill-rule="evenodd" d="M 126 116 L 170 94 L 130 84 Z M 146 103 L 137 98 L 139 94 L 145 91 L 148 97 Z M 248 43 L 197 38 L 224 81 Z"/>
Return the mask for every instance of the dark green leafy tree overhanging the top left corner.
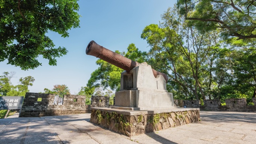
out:
<path id="1" fill-rule="evenodd" d="M 56 65 L 56 57 L 65 55 L 64 47 L 54 48 L 48 31 L 68 37 L 68 30 L 79 27 L 77 0 L 0 0 L 0 61 L 34 69 L 42 65 L 38 56 Z"/>

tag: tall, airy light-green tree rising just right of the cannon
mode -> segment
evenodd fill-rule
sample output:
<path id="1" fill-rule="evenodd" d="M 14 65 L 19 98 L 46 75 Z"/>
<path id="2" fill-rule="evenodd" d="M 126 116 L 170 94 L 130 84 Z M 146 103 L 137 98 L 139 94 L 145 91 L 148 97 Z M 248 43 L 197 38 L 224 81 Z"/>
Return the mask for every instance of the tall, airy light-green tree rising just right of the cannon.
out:
<path id="1" fill-rule="evenodd" d="M 149 64 L 168 74 L 169 90 L 176 89 L 175 94 L 182 93 L 185 98 L 193 95 L 196 99 L 201 95 L 205 99 L 204 83 L 210 80 L 210 73 L 203 73 L 203 69 L 209 67 L 209 54 L 218 47 L 217 34 L 199 33 L 176 7 L 169 8 L 162 20 L 159 26 L 148 25 L 141 34 L 150 46 Z"/>

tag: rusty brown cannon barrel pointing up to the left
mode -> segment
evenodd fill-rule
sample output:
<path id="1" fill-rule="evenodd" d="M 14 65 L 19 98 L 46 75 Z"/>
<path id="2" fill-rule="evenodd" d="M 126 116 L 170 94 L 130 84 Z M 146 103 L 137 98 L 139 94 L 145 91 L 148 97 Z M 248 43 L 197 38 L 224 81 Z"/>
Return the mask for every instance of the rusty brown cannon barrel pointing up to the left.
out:
<path id="1" fill-rule="evenodd" d="M 126 58 L 118 53 L 112 52 L 109 49 L 104 48 L 103 46 L 98 45 L 93 40 L 88 44 L 86 48 L 86 55 L 92 55 L 96 58 L 100 58 L 110 64 L 113 64 L 123 70 L 130 71 L 132 68 L 138 66 L 140 63 L 137 61 L 132 61 L 129 58 Z M 167 75 L 165 73 L 161 73 L 152 68 L 154 76 L 162 75 L 167 83 Z"/>

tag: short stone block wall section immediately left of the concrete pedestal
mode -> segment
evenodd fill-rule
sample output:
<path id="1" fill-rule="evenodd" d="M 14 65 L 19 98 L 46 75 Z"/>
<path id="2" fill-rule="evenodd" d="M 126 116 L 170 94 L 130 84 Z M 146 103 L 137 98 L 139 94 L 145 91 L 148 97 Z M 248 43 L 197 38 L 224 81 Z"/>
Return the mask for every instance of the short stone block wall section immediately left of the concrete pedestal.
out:
<path id="1" fill-rule="evenodd" d="M 109 96 L 92 95 L 91 107 L 109 107 Z"/>

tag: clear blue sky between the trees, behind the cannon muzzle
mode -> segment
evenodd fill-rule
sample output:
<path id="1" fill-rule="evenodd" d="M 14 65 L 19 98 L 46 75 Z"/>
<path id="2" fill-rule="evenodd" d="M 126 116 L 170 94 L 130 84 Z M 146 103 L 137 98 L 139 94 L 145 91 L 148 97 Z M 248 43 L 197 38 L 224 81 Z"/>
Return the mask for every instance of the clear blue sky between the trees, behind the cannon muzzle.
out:
<path id="1" fill-rule="evenodd" d="M 91 73 L 98 68 L 97 58 L 85 54 L 91 40 L 112 51 L 125 51 L 130 43 L 141 51 L 148 51 L 146 40 L 140 38 L 144 27 L 159 24 L 161 14 L 173 7 L 176 0 L 80 0 L 80 28 L 69 30 L 69 37 L 49 32 L 55 47 L 65 47 L 67 55 L 57 58 L 57 66 L 50 66 L 47 59 L 39 56 L 42 66 L 23 71 L 7 61 L 0 62 L 0 75 L 4 71 L 15 71 L 11 80 L 18 85 L 20 77 L 33 76 L 35 82 L 30 92 L 43 92 L 54 85 L 67 85 L 71 94 L 86 86 Z"/>

